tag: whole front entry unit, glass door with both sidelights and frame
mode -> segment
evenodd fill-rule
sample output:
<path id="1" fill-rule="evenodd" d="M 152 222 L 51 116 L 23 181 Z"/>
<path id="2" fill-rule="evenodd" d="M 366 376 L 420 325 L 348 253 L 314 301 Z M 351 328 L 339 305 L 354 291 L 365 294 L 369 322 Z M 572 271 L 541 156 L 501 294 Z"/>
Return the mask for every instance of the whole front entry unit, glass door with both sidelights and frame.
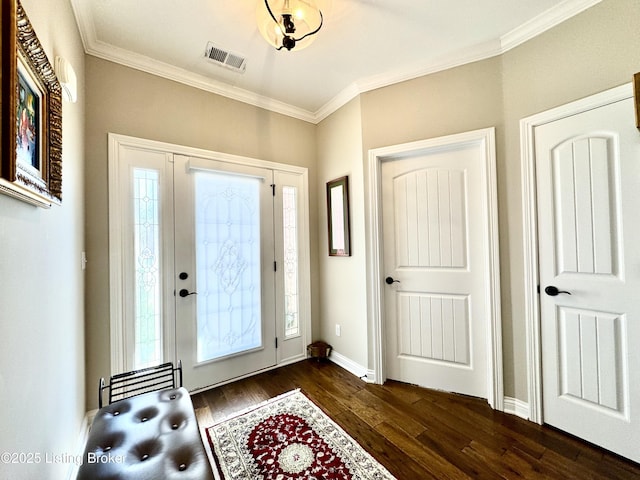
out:
<path id="1" fill-rule="evenodd" d="M 109 135 L 112 374 L 190 390 L 306 358 L 307 169 Z"/>

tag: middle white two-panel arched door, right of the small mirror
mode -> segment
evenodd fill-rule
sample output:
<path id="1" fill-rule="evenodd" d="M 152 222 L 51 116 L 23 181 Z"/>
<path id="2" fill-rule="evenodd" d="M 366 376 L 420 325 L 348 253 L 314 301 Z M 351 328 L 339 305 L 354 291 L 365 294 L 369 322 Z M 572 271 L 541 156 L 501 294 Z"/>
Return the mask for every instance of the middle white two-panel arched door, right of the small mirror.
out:
<path id="1" fill-rule="evenodd" d="M 487 398 L 489 162 L 482 142 L 451 142 L 381 165 L 386 372 Z"/>

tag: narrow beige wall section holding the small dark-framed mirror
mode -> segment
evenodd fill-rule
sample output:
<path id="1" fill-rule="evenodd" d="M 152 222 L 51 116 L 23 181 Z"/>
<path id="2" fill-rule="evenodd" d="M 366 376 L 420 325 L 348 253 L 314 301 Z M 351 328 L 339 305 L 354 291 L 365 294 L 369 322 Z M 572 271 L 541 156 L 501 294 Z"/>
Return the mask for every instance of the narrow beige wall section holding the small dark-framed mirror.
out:
<path id="1" fill-rule="evenodd" d="M 364 171 L 360 99 L 318 126 L 318 221 L 320 316 L 314 338 L 360 366 L 367 362 L 366 245 L 364 235 Z M 330 257 L 327 233 L 326 183 L 348 175 L 351 256 Z M 336 325 L 341 335 L 336 336 Z M 364 375 L 366 372 L 362 372 Z"/>

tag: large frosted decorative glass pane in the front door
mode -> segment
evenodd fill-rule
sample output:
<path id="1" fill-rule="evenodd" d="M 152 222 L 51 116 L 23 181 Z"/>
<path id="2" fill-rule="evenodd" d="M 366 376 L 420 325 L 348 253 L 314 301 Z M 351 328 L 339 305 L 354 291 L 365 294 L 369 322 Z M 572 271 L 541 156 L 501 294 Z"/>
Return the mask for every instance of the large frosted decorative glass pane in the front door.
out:
<path id="1" fill-rule="evenodd" d="M 198 362 L 262 346 L 261 183 L 195 173 Z"/>

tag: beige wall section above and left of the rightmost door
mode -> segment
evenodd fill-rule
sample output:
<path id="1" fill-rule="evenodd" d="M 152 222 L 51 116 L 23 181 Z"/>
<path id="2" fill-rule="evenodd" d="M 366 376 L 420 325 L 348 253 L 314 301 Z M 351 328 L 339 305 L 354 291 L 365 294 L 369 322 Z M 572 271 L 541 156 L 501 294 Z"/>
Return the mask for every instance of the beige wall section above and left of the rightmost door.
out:
<path id="1" fill-rule="evenodd" d="M 498 145 L 507 394 L 527 399 L 520 119 L 631 81 L 640 71 L 640 3 L 604 0 L 503 55 L 504 142 Z"/>

